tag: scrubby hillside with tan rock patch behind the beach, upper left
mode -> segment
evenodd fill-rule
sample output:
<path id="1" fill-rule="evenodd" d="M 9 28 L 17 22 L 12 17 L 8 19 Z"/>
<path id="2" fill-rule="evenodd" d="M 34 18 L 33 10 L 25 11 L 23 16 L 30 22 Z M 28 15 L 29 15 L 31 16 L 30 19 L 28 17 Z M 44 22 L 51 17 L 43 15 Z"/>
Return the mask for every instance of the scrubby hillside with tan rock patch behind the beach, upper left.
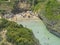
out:
<path id="1" fill-rule="evenodd" d="M 10 2 L 1 2 L 0 3 L 0 13 L 4 12 L 13 12 L 20 13 L 31 9 L 30 0 L 10 0 Z"/>

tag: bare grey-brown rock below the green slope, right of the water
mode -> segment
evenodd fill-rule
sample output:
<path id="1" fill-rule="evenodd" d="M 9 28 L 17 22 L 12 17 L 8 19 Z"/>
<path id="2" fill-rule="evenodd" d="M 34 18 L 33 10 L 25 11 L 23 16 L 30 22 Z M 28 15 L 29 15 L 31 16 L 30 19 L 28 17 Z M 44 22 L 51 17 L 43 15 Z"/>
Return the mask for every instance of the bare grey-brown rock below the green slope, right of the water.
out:
<path id="1" fill-rule="evenodd" d="M 39 15 L 39 18 L 44 22 L 48 31 L 60 38 L 60 21 L 48 20 L 45 16 Z"/>

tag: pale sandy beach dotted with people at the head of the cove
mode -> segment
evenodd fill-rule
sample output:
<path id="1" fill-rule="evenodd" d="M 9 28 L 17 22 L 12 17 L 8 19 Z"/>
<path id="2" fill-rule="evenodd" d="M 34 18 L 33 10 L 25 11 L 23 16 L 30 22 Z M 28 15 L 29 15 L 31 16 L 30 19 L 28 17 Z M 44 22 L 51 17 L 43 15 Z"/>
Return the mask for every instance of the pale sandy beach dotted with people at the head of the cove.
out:
<path id="1" fill-rule="evenodd" d="M 21 21 L 21 20 L 37 20 L 38 15 L 32 11 L 22 12 L 18 14 L 5 14 L 3 18 L 11 21 Z"/>

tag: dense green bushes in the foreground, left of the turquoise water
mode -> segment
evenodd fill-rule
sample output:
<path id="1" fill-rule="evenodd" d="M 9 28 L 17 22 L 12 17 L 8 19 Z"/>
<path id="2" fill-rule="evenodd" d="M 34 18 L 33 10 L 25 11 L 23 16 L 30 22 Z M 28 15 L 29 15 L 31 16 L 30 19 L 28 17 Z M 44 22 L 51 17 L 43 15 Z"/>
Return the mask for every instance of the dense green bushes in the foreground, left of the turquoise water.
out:
<path id="1" fill-rule="evenodd" d="M 37 40 L 34 37 L 32 31 L 21 24 L 8 21 L 6 19 L 0 19 L 0 29 L 7 30 L 7 41 L 13 45 L 37 45 Z"/>

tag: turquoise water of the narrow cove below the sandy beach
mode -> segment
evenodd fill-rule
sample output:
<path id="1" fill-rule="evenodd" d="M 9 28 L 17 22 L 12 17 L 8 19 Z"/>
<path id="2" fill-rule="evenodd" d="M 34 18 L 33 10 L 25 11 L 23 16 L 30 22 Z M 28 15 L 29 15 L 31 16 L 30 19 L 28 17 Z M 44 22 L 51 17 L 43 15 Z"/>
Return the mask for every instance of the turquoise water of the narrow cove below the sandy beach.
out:
<path id="1" fill-rule="evenodd" d="M 41 45 L 60 45 L 60 38 L 51 34 L 41 20 L 23 20 L 17 22 L 31 29 Z"/>

